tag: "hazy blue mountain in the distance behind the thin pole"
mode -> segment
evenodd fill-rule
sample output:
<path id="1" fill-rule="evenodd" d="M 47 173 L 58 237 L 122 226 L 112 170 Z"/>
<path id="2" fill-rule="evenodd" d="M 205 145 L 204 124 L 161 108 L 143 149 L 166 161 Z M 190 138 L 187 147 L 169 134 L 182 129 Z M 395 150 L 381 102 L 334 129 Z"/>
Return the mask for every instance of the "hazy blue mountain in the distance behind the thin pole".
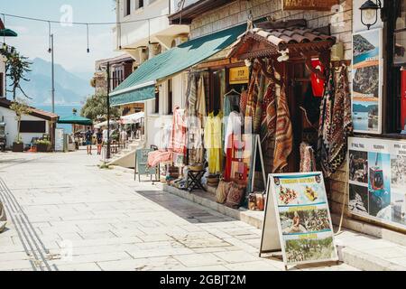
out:
<path id="1" fill-rule="evenodd" d="M 94 93 L 90 79 L 82 79 L 55 63 L 55 104 L 83 104 Z M 24 92 L 29 96 L 32 105 L 51 104 L 51 62 L 41 58 L 32 61 L 31 72 L 26 74 L 30 81 L 22 81 Z M 20 94 L 20 92 L 18 92 Z M 23 95 L 19 95 L 23 98 Z"/>

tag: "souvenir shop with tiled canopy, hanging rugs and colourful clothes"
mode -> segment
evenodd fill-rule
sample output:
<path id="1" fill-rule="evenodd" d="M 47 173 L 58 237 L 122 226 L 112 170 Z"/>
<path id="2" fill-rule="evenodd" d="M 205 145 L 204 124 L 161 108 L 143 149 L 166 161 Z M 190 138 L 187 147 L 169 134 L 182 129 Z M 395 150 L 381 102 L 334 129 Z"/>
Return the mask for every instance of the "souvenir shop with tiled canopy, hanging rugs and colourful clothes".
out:
<path id="1" fill-rule="evenodd" d="M 225 60 L 189 71 L 185 108 L 149 165 L 168 162 L 169 185 L 250 210 L 263 210 L 267 173 L 316 171 L 319 158 L 328 177 L 352 127 L 349 61 L 330 61 L 335 43 L 305 20 L 248 29 Z"/>

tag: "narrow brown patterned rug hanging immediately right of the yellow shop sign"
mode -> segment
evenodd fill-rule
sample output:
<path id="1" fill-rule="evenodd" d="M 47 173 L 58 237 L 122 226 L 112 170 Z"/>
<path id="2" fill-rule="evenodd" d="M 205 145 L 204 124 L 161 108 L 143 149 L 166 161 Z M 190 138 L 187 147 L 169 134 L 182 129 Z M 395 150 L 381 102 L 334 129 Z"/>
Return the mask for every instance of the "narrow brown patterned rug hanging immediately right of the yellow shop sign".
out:
<path id="1" fill-rule="evenodd" d="M 251 82 L 248 88 L 248 98 L 245 107 L 245 134 L 253 132 L 253 118 L 255 116 L 256 101 L 258 98 L 258 82 L 261 75 L 261 66 L 258 62 L 254 62 Z"/>

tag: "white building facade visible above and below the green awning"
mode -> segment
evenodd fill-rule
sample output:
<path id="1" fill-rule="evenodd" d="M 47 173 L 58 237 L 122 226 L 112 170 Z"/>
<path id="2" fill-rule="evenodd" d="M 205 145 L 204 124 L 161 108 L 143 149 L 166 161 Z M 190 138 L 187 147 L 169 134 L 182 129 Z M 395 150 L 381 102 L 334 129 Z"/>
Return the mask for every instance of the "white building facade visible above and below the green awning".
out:
<path id="1" fill-rule="evenodd" d="M 189 39 L 189 25 L 171 25 L 168 15 L 176 0 L 117 0 L 115 47 L 125 51 L 137 64 Z M 156 98 L 145 100 L 146 146 L 160 145 L 161 128 L 171 121 L 173 107 L 182 104 L 186 75 L 180 73 L 156 85 Z"/>

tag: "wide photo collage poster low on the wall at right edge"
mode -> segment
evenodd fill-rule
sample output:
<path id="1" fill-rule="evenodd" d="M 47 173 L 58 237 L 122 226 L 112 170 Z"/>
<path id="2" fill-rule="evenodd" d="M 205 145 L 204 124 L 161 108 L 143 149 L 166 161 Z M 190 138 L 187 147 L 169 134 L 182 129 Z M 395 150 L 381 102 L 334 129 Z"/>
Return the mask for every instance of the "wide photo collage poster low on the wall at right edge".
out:
<path id="1" fill-rule="evenodd" d="M 348 142 L 349 212 L 406 228 L 406 141 Z"/>

